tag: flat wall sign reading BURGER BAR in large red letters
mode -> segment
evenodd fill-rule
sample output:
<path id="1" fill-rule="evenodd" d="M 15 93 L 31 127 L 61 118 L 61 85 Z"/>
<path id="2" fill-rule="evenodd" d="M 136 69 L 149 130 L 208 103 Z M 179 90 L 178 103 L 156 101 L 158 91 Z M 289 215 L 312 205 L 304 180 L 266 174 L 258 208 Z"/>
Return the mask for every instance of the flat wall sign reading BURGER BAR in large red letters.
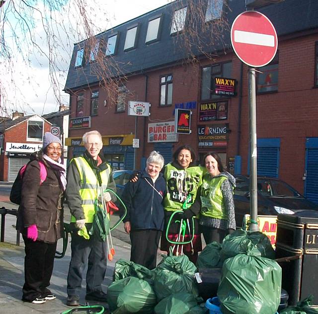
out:
<path id="1" fill-rule="evenodd" d="M 178 142 L 174 121 L 148 124 L 148 143 Z"/>

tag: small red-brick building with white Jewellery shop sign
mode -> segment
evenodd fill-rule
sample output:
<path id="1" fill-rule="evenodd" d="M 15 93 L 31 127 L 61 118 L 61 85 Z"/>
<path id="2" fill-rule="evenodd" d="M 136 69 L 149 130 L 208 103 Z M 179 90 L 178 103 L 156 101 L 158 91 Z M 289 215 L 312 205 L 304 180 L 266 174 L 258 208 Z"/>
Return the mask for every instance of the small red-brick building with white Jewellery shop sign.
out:
<path id="1" fill-rule="evenodd" d="M 14 112 L 12 119 L 0 123 L 0 181 L 14 181 L 32 153 L 42 148 L 43 135 L 51 123 L 38 115 Z"/>

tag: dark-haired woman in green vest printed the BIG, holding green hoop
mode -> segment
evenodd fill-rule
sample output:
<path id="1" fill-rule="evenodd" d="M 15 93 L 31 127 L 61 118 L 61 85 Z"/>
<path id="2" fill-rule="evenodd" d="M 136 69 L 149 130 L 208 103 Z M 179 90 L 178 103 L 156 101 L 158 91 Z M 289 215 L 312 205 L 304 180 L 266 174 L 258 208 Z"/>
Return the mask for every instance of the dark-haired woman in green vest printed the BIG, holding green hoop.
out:
<path id="1" fill-rule="evenodd" d="M 189 226 L 185 227 L 185 235 L 181 241 L 186 242 L 193 232 L 192 217 L 196 213 L 189 207 L 193 204 L 197 196 L 197 191 L 202 183 L 202 175 L 205 168 L 195 165 L 195 153 L 189 145 L 180 146 L 173 154 L 173 161 L 164 166 L 163 177 L 167 182 L 167 194 L 163 201 L 164 206 L 164 230 L 161 235 L 160 249 L 169 252 L 169 247 L 174 246 L 173 255 L 181 253 L 181 245 L 174 245 L 166 239 L 166 229 L 168 229 L 168 238 L 170 241 L 176 241 L 180 232 L 180 222 L 189 221 Z M 169 219 L 173 212 L 183 211 L 183 214 L 175 214 L 173 221 L 168 226 Z M 174 219 L 175 218 L 175 219 Z M 182 252 L 189 259 L 196 263 L 198 252 L 202 250 L 201 234 L 199 231 L 198 219 L 194 218 L 194 238 L 192 243 L 184 244 Z M 178 253 L 177 253 L 178 250 Z"/>

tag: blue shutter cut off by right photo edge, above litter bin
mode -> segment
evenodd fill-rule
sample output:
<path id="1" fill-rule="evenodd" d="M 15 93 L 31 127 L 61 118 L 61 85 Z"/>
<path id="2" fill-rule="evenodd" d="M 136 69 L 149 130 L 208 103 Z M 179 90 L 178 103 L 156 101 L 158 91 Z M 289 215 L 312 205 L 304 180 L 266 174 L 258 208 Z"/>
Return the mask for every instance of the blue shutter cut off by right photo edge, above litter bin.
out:
<path id="1" fill-rule="evenodd" d="M 318 138 L 306 139 L 305 196 L 318 204 Z"/>

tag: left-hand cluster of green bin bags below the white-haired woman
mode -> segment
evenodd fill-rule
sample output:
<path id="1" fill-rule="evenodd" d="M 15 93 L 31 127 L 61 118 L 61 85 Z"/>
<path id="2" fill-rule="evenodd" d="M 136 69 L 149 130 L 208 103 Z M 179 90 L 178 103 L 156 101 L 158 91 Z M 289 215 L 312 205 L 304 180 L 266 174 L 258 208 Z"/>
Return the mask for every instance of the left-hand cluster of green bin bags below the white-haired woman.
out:
<path id="1" fill-rule="evenodd" d="M 196 266 L 185 255 L 164 256 L 154 270 L 120 259 L 115 265 L 107 302 L 113 314 L 206 314 L 198 306 Z"/>

